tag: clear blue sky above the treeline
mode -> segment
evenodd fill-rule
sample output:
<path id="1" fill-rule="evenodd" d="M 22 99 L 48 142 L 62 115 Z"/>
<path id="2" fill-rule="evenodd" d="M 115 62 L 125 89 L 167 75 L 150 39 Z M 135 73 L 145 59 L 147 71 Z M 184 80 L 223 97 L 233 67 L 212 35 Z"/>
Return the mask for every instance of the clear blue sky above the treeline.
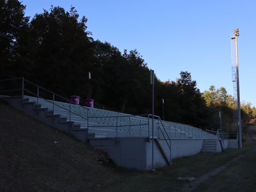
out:
<path id="1" fill-rule="evenodd" d="M 26 16 L 74 6 L 94 40 L 122 53 L 137 49 L 161 81 L 191 73 L 203 93 L 211 85 L 233 95 L 231 34 L 238 37 L 240 100 L 256 107 L 255 0 L 23 0 Z"/>

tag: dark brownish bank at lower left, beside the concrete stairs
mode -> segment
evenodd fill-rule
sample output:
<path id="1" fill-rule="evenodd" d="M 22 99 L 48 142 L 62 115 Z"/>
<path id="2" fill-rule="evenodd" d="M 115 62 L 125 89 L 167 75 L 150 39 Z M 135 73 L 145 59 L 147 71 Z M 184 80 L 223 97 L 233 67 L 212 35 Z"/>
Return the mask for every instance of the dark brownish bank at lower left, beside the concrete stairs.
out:
<path id="1" fill-rule="evenodd" d="M 1 191 L 101 191 L 106 154 L 0 102 Z"/>

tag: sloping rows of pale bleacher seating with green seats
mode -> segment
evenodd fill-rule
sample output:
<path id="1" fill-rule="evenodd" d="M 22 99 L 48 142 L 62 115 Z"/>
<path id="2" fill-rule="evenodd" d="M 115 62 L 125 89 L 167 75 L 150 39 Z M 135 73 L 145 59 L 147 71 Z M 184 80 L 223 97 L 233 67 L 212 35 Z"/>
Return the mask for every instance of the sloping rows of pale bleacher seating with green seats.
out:
<path id="1" fill-rule="evenodd" d="M 76 129 L 88 129 L 88 133 L 100 133 L 105 137 L 152 136 L 152 118 L 125 113 L 86 108 L 71 103 L 56 102 L 32 96 L 24 96 L 24 103 L 35 102 L 36 108 L 47 109 L 47 116 L 60 115 L 66 122 L 73 122 Z M 207 139 L 211 134 L 192 125 L 154 119 L 154 137 L 180 139 Z M 167 136 L 168 135 L 168 136 Z"/>

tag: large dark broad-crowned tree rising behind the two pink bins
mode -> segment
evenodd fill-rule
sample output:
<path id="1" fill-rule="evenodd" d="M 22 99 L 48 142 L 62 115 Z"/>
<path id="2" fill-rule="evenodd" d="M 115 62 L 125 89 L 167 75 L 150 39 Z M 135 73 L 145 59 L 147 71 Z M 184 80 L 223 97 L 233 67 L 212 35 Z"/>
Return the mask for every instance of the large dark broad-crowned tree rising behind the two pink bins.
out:
<path id="1" fill-rule="evenodd" d="M 65 12 L 61 7 L 51 7 L 36 14 L 31 21 L 33 61 L 37 82 L 64 96 L 86 94 L 88 71 L 94 65 L 93 39 L 88 37 L 87 19 L 74 7 Z M 63 85 L 63 86 L 60 86 Z"/>

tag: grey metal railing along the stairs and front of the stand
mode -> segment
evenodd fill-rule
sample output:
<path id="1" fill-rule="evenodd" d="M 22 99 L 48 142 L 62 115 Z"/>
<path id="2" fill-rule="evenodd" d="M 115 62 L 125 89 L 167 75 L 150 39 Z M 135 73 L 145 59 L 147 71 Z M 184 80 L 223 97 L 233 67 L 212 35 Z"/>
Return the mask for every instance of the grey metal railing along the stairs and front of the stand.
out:
<path id="1" fill-rule="evenodd" d="M 83 108 L 84 110 L 86 110 L 86 112 L 87 112 L 87 116 L 81 116 L 80 114 L 78 114 L 78 113 L 76 113 L 75 111 L 71 111 L 71 104 L 72 104 L 72 101 L 70 101 L 69 99 L 66 99 L 66 98 L 64 98 L 64 97 L 62 97 L 62 96 L 60 96 L 60 95 L 58 95 L 58 94 L 55 94 L 55 93 L 53 93 L 53 92 L 51 92 L 51 91 L 49 91 L 49 90 L 47 90 L 47 89 L 44 89 L 43 87 L 40 87 L 40 86 L 38 86 L 38 85 L 36 85 L 36 84 L 33 84 L 32 82 L 29 82 L 29 81 L 27 81 L 27 80 L 25 80 L 23 77 L 20 77 L 20 78 L 13 78 L 13 79 L 4 79 L 4 80 L 0 80 L 0 82 L 1 81 L 16 81 L 16 80 L 22 80 L 22 88 L 20 89 L 20 88 L 18 88 L 18 89 L 9 89 L 9 90 L 0 90 L 0 92 L 7 92 L 7 91 L 20 91 L 20 90 L 22 90 L 22 105 L 23 105 L 23 102 L 24 102 L 24 92 L 27 92 L 27 93 L 29 93 L 29 94 L 32 94 L 33 96 L 36 96 L 36 98 L 37 98 L 37 100 L 36 100 L 36 104 L 37 104 L 37 111 L 38 111 L 38 107 L 39 107 L 39 105 L 38 105 L 38 103 L 39 103 L 39 101 L 38 101 L 38 99 L 40 98 L 40 99 L 43 99 L 43 100 L 45 100 L 45 101 L 47 101 L 47 102 L 49 102 L 49 103 L 51 103 L 52 104 L 52 116 L 54 116 L 54 112 L 55 112 L 55 107 L 57 107 L 58 106 L 58 108 L 61 108 L 61 109 L 63 109 L 63 110 L 65 110 L 65 111 L 68 111 L 69 112 L 69 119 L 70 119 L 70 125 L 71 125 L 71 114 L 75 114 L 76 116 L 79 116 L 79 117 L 81 117 L 82 119 L 85 119 L 85 122 L 87 122 L 87 128 L 89 128 L 89 119 L 92 119 L 92 118 L 102 118 L 102 117 L 99 117 L 99 116 L 97 116 L 97 117 L 94 117 L 94 116 L 89 116 L 89 111 L 90 111 L 90 109 L 89 108 L 86 108 L 86 107 L 84 107 L 84 106 L 82 106 L 82 105 L 77 105 L 77 106 L 80 106 L 81 108 Z M 36 87 L 36 93 L 34 93 L 33 91 L 30 91 L 30 90 L 28 90 L 27 88 L 25 88 L 25 87 L 28 87 L 27 85 L 25 86 L 25 84 L 24 83 L 27 83 L 27 84 L 29 84 L 29 85 L 32 85 L 33 87 Z M 39 90 L 43 90 L 44 92 L 46 92 L 47 94 L 51 94 L 52 95 L 52 101 L 51 100 L 48 100 L 48 99 L 45 99 L 44 98 L 44 96 L 41 96 L 40 94 L 39 94 Z M 69 103 L 69 109 L 67 109 L 67 108 L 64 108 L 63 106 L 60 106 L 60 105 L 58 105 L 58 104 L 56 104 L 55 103 L 55 101 L 56 101 L 56 97 L 59 97 L 60 99 L 62 99 L 62 100 L 64 100 L 64 101 L 66 101 L 66 102 L 68 102 Z M 138 123 L 137 124 L 137 126 L 139 126 L 140 127 L 140 130 L 141 130 L 141 128 L 143 127 L 143 126 L 148 126 L 148 141 L 150 142 L 150 132 L 152 131 L 152 137 L 154 136 L 154 128 L 150 128 L 150 121 L 152 122 L 152 120 L 151 120 L 151 118 L 149 118 L 150 116 L 152 116 L 152 115 L 149 115 L 149 114 L 143 114 L 143 115 L 128 115 L 128 116 L 126 116 L 126 117 L 128 117 L 129 119 L 130 119 L 130 121 L 131 121 L 131 119 L 133 119 L 133 118 L 137 118 L 138 116 L 140 116 L 140 118 L 145 118 L 145 119 L 140 119 L 140 123 Z M 122 118 L 122 117 L 124 117 L 123 115 L 118 115 L 118 116 L 115 116 L 115 117 L 113 117 L 113 116 L 110 116 L 110 117 L 108 117 L 108 118 L 116 118 L 116 122 L 115 122 L 115 127 L 116 127 L 116 130 L 117 130 L 117 137 L 118 137 L 118 127 L 127 127 L 127 126 L 129 126 L 129 131 L 130 131 L 130 134 L 131 134 L 131 128 L 132 127 L 134 127 L 135 125 L 132 125 L 131 124 L 131 122 L 129 123 L 129 125 L 118 125 L 118 120 L 119 120 L 119 118 Z M 154 116 L 154 117 L 156 117 L 157 119 L 155 119 L 154 121 L 156 121 L 156 123 L 155 123 L 155 125 L 157 125 L 158 126 L 158 128 L 157 128 L 157 137 L 159 137 L 160 136 L 160 131 L 161 131 L 161 134 L 163 135 L 163 137 L 165 138 L 165 134 L 168 136 L 168 139 L 167 138 L 165 138 L 165 140 L 170 140 L 170 137 L 169 137 L 169 134 L 168 134 L 168 132 L 167 132 L 167 130 L 166 130 L 166 126 L 168 126 L 168 127 L 170 127 L 170 136 L 171 136 L 171 126 L 172 126 L 172 129 L 174 129 L 175 130 L 175 138 L 177 138 L 177 136 L 178 136 L 178 134 L 180 134 L 180 139 L 182 138 L 182 135 L 184 134 L 184 138 L 186 138 L 186 133 L 188 133 L 189 134 L 189 137 L 190 137 L 190 134 L 192 134 L 192 137 L 194 137 L 195 136 L 195 138 L 197 139 L 197 138 L 202 138 L 203 137 L 203 133 L 202 133 L 202 130 L 199 130 L 198 128 L 194 128 L 194 127 L 192 127 L 192 126 L 189 126 L 189 125 L 184 125 L 184 124 L 180 124 L 180 123 L 174 123 L 174 122 L 163 122 L 161 119 L 160 119 L 160 117 L 159 116 Z M 106 117 L 104 117 L 104 118 L 106 118 Z M 90 127 L 93 127 L 94 125 L 92 125 L 92 126 L 90 126 Z M 100 127 L 101 125 L 95 125 L 95 127 Z M 107 127 L 108 125 L 102 125 L 102 127 Z M 109 125 L 109 126 L 113 126 L 113 125 Z M 160 128 L 160 126 L 161 127 L 163 127 L 163 130 Z M 155 127 L 155 126 L 154 126 Z M 182 131 L 182 129 L 183 129 L 183 131 Z M 201 132 L 200 132 L 201 131 Z M 207 130 L 206 130 L 207 131 Z M 215 137 L 216 137 L 216 133 L 215 133 L 215 131 L 207 131 L 207 133 L 211 133 L 210 134 L 210 136 L 208 136 L 208 137 L 212 137 L 213 135 L 215 135 Z M 226 137 L 229 137 L 228 135 L 226 135 L 226 134 L 224 134 L 224 133 L 222 133 L 222 136 L 223 136 L 223 138 L 226 138 Z M 168 143 L 168 142 L 167 142 Z M 169 144 L 168 144 L 169 145 Z M 169 148 L 170 148 L 170 146 L 169 146 Z"/>

